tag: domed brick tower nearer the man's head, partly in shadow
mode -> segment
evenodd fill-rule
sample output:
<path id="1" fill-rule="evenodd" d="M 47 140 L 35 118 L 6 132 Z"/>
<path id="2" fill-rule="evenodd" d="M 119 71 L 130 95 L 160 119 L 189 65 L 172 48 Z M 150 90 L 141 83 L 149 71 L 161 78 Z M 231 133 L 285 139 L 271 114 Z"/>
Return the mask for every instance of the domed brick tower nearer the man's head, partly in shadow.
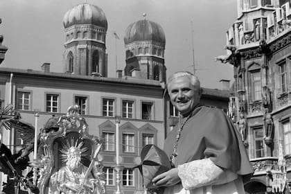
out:
<path id="1" fill-rule="evenodd" d="M 145 14 L 143 15 L 145 17 Z M 166 82 L 165 46 L 163 28 L 153 21 L 136 21 L 125 30 L 125 76 Z M 139 71 L 139 73 L 134 73 Z M 133 75 L 134 73 L 134 75 Z"/>

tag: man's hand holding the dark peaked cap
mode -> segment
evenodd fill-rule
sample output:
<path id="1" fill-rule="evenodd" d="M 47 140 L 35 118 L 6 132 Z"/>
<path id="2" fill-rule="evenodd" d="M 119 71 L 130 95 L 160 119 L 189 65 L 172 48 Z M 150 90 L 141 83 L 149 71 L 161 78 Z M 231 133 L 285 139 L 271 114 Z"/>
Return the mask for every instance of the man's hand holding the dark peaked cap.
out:
<path id="1" fill-rule="evenodd" d="M 180 177 L 178 176 L 178 168 L 172 168 L 161 175 L 157 175 L 152 182 L 155 186 L 173 186 L 181 182 Z"/>

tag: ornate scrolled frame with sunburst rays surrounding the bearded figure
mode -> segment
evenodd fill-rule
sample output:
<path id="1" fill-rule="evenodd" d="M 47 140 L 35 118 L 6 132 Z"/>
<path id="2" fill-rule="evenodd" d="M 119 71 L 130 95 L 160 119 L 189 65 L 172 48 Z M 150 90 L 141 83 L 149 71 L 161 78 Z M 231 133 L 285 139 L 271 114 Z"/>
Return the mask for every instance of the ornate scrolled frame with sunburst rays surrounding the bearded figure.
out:
<path id="1" fill-rule="evenodd" d="M 98 192 L 105 193 L 103 164 L 95 156 L 96 150 L 100 150 L 103 141 L 97 136 L 88 134 L 88 125 L 85 118 L 78 114 L 79 109 L 78 105 L 72 105 L 68 108 L 66 115 L 58 118 L 58 131 L 43 132 L 40 135 L 41 143 L 37 151 L 39 165 L 37 186 L 40 194 L 50 192 L 51 176 L 66 165 L 70 148 L 80 150 L 80 162 L 90 169 Z"/>

